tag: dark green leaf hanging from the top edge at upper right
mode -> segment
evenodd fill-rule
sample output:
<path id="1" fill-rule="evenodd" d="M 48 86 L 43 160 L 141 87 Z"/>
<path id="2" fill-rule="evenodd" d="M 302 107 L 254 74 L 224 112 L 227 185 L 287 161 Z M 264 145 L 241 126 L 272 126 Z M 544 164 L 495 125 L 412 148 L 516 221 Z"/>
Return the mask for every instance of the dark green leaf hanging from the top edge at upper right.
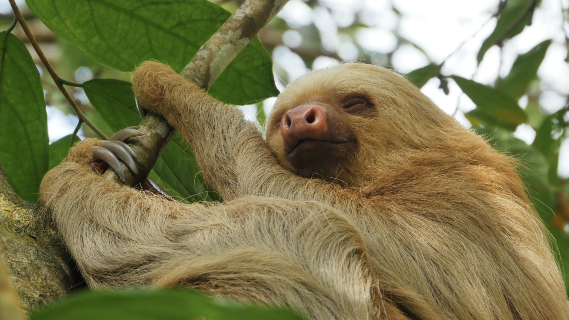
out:
<path id="1" fill-rule="evenodd" d="M 536 2 L 535 0 L 508 1 L 504 10 L 498 15 L 496 28 L 494 28 L 492 34 L 484 40 L 480 47 L 480 51 L 476 56 L 478 63 L 482 61 L 486 51 L 494 44 L 500 43 L 505 39 L 510 39 L 519 34 L 519 32 L 522 32 L 527 24 L 527 20 L 530 19 L 533 14 L 533 8 Z"/>

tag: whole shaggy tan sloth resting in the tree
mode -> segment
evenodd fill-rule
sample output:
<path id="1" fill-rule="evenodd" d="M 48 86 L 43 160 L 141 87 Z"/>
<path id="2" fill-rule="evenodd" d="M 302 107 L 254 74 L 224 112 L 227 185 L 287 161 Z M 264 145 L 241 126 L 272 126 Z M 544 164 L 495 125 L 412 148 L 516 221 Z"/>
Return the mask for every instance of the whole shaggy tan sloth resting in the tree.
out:
<path id="1" fill-rule="evenodd" d="M 405 77 L 311 71 L 278 96 L 266 138 L 166 65 L 132 80 L 224 202 L 119 186 L 90 165 L 133 154 L 77 143 L 40 196 L 90 288 L 183 286 L 309 319 L 569 318 L 516 162 Z"/>

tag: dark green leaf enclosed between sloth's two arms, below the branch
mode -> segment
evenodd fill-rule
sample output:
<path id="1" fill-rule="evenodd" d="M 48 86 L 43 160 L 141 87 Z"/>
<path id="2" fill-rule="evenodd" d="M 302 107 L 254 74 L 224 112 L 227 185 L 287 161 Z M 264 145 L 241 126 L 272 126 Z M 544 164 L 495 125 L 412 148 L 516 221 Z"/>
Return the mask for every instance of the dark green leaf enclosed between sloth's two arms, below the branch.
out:
<path id="1" fill-rule="evenodd" d="M 215 192 L 205 184 L 192 151 L 179 133 L 168 143 L 153 170 L 159 179 L 152 180 L 165 190 L 174 190 L 185 202 L 216 200 Z"/>

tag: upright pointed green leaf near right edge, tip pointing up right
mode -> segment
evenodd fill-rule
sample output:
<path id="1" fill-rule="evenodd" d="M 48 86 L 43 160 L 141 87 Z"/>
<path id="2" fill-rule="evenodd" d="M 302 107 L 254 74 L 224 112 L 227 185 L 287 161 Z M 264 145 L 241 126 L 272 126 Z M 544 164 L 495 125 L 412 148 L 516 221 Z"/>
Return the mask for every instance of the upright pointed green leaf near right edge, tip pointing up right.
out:
<path id="1" fill-rule="evenodd" d="M 530 82 L 537 77 L 537 69 L 550 44 L 551 40 L 545 40 L 525 54 L 518 56 L 509 75 L 501 79 L 496 88 L 508 93 L 516 100 L 521 98 L 526 93 Z"/>

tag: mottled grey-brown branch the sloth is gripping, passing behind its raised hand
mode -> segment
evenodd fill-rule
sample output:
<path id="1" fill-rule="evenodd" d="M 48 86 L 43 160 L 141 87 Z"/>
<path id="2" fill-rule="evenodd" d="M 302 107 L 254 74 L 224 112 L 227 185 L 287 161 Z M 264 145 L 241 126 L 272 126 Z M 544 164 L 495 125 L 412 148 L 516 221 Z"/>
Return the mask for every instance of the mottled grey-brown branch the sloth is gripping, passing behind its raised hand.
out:
<path id="1" fill-rule="evenodd" d="M 13 1 L 13 0 L 11 0 Z M 229 19 L 209 38 L 193 56 L 182 71 L 182 76 L 205 89 L 221 75 L 221 72 L 241 52 L 270 19 L 272 19 L 288 0 L 247 0 Z M 123 164 L 126 182 L 122 182 L 112 170 L 104 177 L 130 186 L 138 186 L 146 179 L 156 160 L 174 135 L 174 129 L 156 114 L 147 114 L 139 127 L 145 136 L 131 138 L 128 143 L 138 158 L 139 174 L 133 173 Z"/>

